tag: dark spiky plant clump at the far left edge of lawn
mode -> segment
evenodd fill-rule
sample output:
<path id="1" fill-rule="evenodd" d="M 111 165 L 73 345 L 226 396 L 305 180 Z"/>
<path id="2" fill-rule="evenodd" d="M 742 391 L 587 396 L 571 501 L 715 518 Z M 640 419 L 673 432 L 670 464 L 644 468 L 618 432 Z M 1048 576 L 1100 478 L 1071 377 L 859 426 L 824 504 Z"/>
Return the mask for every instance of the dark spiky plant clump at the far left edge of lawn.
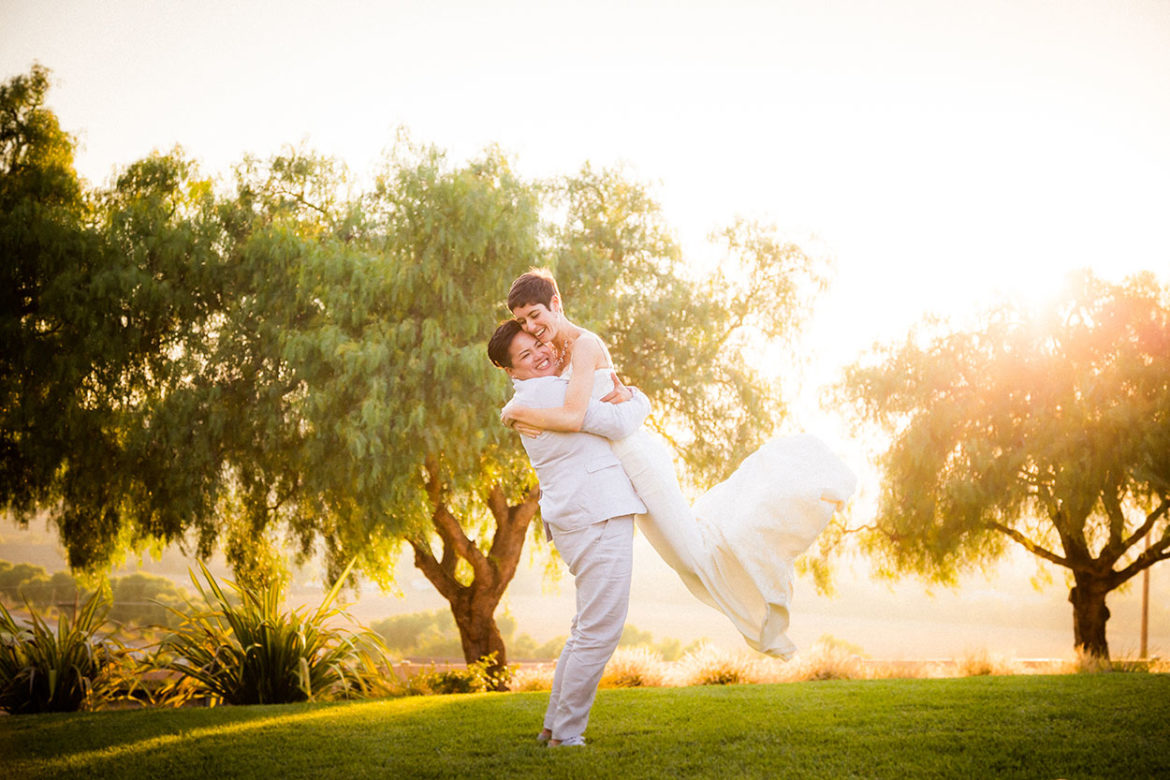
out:
<path id="1" fill-rule="evenodd" d="M 0 710 L 73 712 L 109 698 L 111 672 L 128 658 L 97 639 L 108 608 L 108 596 L 94 593 L 76 613 L 62 612 L 54 630 L 32 608 L 30 624 L 20 624 L 0 603 Z"/>

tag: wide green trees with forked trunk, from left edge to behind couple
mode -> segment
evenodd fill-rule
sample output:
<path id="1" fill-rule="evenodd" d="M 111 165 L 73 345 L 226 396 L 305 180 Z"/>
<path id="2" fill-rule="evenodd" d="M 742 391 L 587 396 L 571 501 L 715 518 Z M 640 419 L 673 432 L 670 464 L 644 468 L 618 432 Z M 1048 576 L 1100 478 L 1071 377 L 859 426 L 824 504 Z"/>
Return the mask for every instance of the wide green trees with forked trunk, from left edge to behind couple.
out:
<path id="1" fill-rule="evenodd" d="M 0 498 L 26 520 L 48 511 L 75 566 L 177 543 L 222 548 L 255 584 L 290 537 L 335 574 L 357 557 L 386 582 L 408 545 L 467 660 L 505 663 L 495 609 L 538 491 L 486 344 L 535 264 L 654 399 L 693 479 L 734 468 L 783 414 L 745 350 L 792 336 L 823 278 L 766 228 L 720 234 L 721 270 L 695 279 L 617 172 L 532 182 L 496 150 L 456 164 L 407 140 L 364 192 L 292 150 L 227 186 L 154 154 L 85 193 L 36 83 L 4 94 L 25 106 L 6 117 L 53 132 L 7 136 L 0 239 L 23 297 L 4 320 L 20 348 L 5 351 Z M 44 227 L 7 219 L 18 208 Z"/>

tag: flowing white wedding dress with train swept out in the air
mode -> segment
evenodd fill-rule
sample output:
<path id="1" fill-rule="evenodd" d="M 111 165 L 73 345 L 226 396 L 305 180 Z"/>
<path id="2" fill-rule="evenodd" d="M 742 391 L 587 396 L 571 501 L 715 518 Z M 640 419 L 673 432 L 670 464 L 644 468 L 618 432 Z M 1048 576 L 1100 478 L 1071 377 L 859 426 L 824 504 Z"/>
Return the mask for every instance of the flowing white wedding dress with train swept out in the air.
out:
<path id="1" fill-rule="evenodd" d="M 612 389 L 611 373 L 596 372 L 593 398 Z M 661 439 L 641 429 L 612 444 L 646 504 L 636 523 L 654 550 L 751 648 L 792 657 L 793 561 L 853 495 L 849 468 L 814 436 L 778 436 L 691 506 Z"/>

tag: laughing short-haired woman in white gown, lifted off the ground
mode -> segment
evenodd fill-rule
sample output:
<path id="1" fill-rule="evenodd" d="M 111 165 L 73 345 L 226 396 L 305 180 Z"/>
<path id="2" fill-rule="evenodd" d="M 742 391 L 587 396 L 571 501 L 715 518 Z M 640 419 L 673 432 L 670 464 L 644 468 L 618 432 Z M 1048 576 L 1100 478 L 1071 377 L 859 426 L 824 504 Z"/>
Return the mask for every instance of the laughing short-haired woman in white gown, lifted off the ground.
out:
<path id="1" fill-rule="evenodd" d="M 580 430 L 590 399 L 617 400 L 620 385 L 605 344 L 564 316 L 548 271 L 517 278 L 508 308 L 524 330 L 556 347 L 569 388 L 559 408 L 509 405 L 505 423 L 526 434 Z M 853 495 L 856 477 L 848 467 L 813 436 L 780 436 L 690 505 L 659 437 L 642 429 L 612 446 L 646 504 L 638 527 L 655 551 L 751 648 L 790 658 L 793 561 Z"/>

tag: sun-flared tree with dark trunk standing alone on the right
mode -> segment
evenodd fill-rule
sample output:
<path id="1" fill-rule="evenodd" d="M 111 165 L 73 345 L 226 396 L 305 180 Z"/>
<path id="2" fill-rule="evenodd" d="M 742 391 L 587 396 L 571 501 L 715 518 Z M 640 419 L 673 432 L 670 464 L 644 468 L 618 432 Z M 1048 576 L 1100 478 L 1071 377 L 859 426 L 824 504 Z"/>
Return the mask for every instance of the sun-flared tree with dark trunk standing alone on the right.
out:
<path id="1" fill-rule="evenodd" d="M 852 367 L 844 396 L 890 437 L 863 546 L 954 582 L 1019 545 L 1068 573 L 1075 647 L 1107 660 L 1106 598 L 1170 558 L 1168 358 L 1166 290 L 1085 274 Z"/>

